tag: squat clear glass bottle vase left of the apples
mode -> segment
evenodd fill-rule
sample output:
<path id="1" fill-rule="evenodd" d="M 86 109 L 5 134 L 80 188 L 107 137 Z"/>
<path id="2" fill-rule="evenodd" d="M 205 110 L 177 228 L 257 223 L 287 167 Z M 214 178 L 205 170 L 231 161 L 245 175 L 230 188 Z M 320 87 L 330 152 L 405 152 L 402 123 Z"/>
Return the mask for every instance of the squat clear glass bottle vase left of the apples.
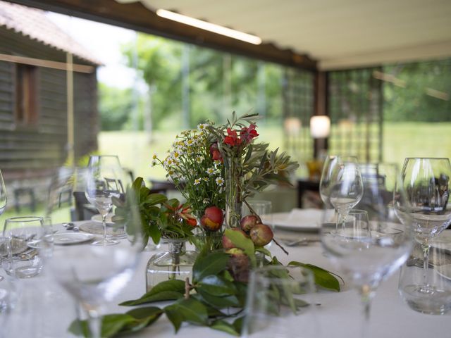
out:
<path id="1" fill-rule="evenodd" d="M 156 253 L 147 262 L 146 292 L 166 280 L 192 279 L 197 253 L 186 251 L 186 239 L 165 239 L 168 251 Z"/>

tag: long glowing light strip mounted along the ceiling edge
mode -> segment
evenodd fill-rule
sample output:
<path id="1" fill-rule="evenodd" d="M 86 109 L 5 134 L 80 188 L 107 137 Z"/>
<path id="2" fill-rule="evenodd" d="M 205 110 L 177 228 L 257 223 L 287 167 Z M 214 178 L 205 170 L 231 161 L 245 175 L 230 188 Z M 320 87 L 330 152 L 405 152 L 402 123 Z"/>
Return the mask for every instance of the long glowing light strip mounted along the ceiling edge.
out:
<path id="1" fill-rule="evenodd" d="M 207 23 L 206 21 L 190 18 L 189 16 L 171 11 L 166 11 L 165 9 L 157 10 L 156 15 L 161 16 L 161 18 L 178 21 L 179 23 L 185 23 L 185 25 L 194 26 L 202 30 L 209 30 L 210 32 L 226 35 L 226 37 L 233 37 L 233 39 L 249 42 L 249 44 L 261 44 L 261 39 L 255 35 L 250 35 L 237 30 L 230 30 L 230 28 L 227 27 L 215 25 L 214 23 Z"/>

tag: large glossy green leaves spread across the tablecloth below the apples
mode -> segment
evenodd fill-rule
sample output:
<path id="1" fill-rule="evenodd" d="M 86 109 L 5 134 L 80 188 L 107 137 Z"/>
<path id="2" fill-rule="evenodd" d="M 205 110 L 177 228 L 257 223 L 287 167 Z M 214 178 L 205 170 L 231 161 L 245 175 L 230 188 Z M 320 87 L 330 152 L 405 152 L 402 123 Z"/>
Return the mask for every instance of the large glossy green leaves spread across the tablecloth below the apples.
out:
<path id="1" fill-rule="evenodd" d="M 258 255 L 263 254 L 263 265 L 282 265 L 268 250 L 256 248 L 252 241 L 240 232 L 226 230 L 226 236 L 244 251 L 251 267 L 257 266 Z M 247 295 L 247 283 L 237 281 L 230 270 L 233 255 L 225 251 L 204 251 L 199 253 L 192 268 L 192 281 L 167 280 L 156 284 L 139 299 L 125 301 L 121 306 L 140 306 L 126 313 L 105 315 L 102 319 L 101 337 L 115 337 L 118 334 L 132 334 L 152 325 L 164 313 L 173 324 L 175 333 L 183 323 L 210 327 L 240 336 L 244 318 Z M 301 266 L 312 271 L 318 287 L 331 291 L 340 291 L 338 279 L 327 270 L 315 265 L 290 262 L 288 265 Z M 290 278 L 288 273 L 285 276 Z M 292 305 L 292 310 L 305 306 L 305 303 L 286 304 L 283 293 L 278 293 L 280 305 Z M 143 306 L 161 301 L 173 301 L 168 306 Z M 224 311 L 226 309 L 233 310 Z M 232 314 L 230 314 L 232 313 Z M 70 325 L 70 332 L 89 337 L 87 320 L 75 320 Z"/>

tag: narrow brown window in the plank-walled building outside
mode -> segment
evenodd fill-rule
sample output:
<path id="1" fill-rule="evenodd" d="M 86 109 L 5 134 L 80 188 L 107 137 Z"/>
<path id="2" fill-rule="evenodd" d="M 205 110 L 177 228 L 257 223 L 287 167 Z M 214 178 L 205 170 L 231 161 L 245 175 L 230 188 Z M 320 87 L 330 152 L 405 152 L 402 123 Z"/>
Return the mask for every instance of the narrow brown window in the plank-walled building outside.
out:
<path id="1" fill-rule="evenodd" d="M 37 123 L 37 67 L 16 65 L 16 123 Z"/>

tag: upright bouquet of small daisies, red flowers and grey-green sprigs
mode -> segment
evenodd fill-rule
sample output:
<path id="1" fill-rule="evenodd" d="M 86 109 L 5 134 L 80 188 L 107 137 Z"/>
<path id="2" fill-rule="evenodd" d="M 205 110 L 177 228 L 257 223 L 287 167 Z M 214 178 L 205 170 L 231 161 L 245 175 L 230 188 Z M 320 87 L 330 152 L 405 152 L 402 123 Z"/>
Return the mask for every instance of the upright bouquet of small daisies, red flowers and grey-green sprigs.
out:
<path id="1" fill-rule="evenodd" d="M 207 233 L 220 229 L 218 209 L 225 209 L 226 227 L 240 227 L 246 199 L 269 184 L 289 183 L 290 173 L 298 167 L 287 154 L 256 142 L 256 118 L 257 114 L 238 118 L 233 113 L 224 125 L 207 121 L 177 135 L 163 160 L 154 155 L 152 165 L 163 165 L 166 177 L 192 205 Z"/>

